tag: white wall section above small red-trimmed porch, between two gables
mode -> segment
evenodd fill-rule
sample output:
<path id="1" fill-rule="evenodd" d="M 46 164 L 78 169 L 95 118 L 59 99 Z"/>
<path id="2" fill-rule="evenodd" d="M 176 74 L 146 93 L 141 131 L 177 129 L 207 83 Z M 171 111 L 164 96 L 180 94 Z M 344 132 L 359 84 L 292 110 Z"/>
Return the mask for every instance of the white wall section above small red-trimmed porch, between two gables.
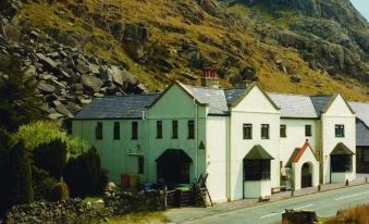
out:
<path id="1" fill-rule="evenodd" d="M 286 125 L 286 137 L 281 137 L 281 152 L 280 158 L 283 162 L 283 166 L 288 162 L 292 153 L 296 148 L 304 146 L 306 139 L 312 150 L 318 150 L 318 120 L 304 120 L 304 119 L 281 119 L 281 125 Z M 305 136 L 305 125 L 311 125 L 311 136 Z"/>

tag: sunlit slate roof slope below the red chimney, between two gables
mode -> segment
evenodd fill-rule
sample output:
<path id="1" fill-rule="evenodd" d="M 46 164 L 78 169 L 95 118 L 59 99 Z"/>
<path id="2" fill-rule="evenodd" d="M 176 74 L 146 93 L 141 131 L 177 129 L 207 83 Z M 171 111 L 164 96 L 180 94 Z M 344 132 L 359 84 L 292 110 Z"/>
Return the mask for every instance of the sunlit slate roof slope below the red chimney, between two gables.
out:
<path id="1" fill-rule="evenodd" d="M 193 95 L 200 103 L 209 105 L 210 114 L 227 114 L 227 105 L 223 89 L 205 88 L 196 86 L 183 85 L 190 95 Z"/>

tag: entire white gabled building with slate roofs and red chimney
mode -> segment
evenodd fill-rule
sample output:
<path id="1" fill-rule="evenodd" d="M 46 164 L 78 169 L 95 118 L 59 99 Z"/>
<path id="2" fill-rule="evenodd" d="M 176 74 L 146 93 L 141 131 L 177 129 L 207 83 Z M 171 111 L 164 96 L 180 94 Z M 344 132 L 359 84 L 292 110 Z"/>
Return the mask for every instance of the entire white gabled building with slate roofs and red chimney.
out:
<path id="1" fill-rule="evenodd" d="M 211 76 L 204 80 L 216 86 Z M 355 178 L 355 114 L 341 95 L 307 97 L 179 82 L 161 95 L 98 98 L 73 120 L 109 177 L 190 184 L 213 201 Z"/>

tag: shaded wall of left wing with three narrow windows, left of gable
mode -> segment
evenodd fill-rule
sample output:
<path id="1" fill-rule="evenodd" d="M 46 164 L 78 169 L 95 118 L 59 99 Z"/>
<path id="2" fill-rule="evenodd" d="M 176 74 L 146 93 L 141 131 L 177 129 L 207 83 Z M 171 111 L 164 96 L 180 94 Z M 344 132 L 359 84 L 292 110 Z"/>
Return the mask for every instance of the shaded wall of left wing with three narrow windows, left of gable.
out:
<path id="1" fill-rule="evenodd" d="M 95 128 L 102 122 L 102 139 L 96 139 Z M 120 122 L 121 139 L 113 139 L 114 122 Z M 138 139 L 132 137 L 132 122 L 138 122 Z M 109 179 L 119 184 L 121 174 L 138 173 L 138 157 L 144 154 L 145 128 L 142 120 L 85 120 L 72 122 L 73 135 L 79 136 L 95 146 L 101 157 L 101 164 L 108 171 Z M 131 153 L 130 153 L 131 152 Z M 135 155 L 132 155 L 135 154 Z M 145 176 L 139 175 L 144 181 Z"/>

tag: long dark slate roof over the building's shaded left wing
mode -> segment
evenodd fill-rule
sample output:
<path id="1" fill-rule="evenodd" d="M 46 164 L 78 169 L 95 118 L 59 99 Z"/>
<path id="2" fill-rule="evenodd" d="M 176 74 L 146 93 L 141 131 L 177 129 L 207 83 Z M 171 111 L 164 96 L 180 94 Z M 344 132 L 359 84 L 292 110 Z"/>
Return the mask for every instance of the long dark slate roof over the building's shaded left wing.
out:
<path id="1" fill-rule="evenodd" d="M 95 98 L 74 119 L 140 119 L 145 107 L 152 103 L 159 96 L 159 94 L 152 94 Z"/>

